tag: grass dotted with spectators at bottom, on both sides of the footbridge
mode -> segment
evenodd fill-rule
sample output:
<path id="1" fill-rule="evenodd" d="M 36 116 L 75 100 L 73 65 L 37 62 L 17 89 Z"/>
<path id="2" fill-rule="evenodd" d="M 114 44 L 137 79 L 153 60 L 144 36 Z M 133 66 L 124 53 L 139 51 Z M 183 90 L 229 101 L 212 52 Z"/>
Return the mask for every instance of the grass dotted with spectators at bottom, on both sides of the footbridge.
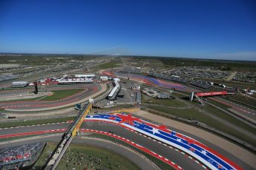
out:
<path id="1" fill-rule="evenodd" d="M 49 153 L 55 149 L 56 143 L 47 143 L 39 160 L 36 161 L 35 168 L 40 169 L 45 163 Z M 59 161 L 57 169 L 140 169 L 137 165 L 120 154 L 95 146 L 73 145 L 71 144 L 62 159 Z"/>

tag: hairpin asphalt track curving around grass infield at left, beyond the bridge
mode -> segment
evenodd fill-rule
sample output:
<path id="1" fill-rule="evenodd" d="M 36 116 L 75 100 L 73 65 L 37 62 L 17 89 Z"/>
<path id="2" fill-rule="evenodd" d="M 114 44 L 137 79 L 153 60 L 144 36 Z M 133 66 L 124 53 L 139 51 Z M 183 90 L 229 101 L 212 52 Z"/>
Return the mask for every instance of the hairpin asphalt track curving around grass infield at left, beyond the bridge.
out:
<path id="1" fill-rule="evenodd" d="M 99 91 L 101 88 L 98 84 L 83 84 L 82 86 L 65 86 L 65 85 L 59 85 L 59 86 L 53 86 L 50 88 L 47 88 L 48 90 L 57 90 L 57 89 L 85 89 L 82 92 L 78 92 L 75 95 L 70 95 L 67 98 L 63 98 L 58 101 L 6 101 L 6 102 L 0 102 L 0 108 L 2 109 L 41 109 L 45 107 L 53 107 L 53 106 L 62 106 L 68 103 L 73 103 L 76 101 L 80 101 L 83 98 L 86 98 L 93 93 Z M 26 89 L 27 90 L 27 89 Z M 5 90 L 4 92 L 6 92 Z M 12 90 L 8 90 L 9 92 Z M 17 91 L 17 90 L 15 90 Z M 19 90 L 18 90 L 19 91 Z M 0 92 L 1 94 L 1 92 Z"/>

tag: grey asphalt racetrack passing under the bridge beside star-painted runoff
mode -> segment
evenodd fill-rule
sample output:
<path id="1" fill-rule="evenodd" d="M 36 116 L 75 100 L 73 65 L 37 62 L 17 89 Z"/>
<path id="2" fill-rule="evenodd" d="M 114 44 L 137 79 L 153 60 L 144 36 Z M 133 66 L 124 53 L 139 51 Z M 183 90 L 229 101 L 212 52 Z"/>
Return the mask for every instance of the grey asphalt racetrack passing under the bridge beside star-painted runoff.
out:
<path id="1" fill-rule="evenodd" d="M 42 131 L 47 129 L 66 129 L 68 128 L 69 123 L 59 123 L 59 124 L 50 124 L 46 126 L 33 126 L 24 127 L 24 128 L 13 128 L 13 129 L 0 129 L 1 135 L 7 134 L 15 134 L 22 132 L 34 132 L 34 131 Z M 139 144 L 140 146 L 144 146 L 147 149 L 150 149 L 152 152 L 157 154 L 161 154 L 163 157 L 168 158 L 169 160 L 177 163 L 183 169 L 203 169 L 202 166 L 197 164 L 194 160 L 186 157 L 184 154 L 180 154 L 174 149 L 170 149 L 168 146 L 164 146 L 163 144 L 157 143 L 154 140 L 149 140 L 147 137 L 136 134 L 134 132 L 129 131 L 128 129 L 124 129 L 119 126 L 115 126 L 109 123 L 99 123 L 99 122 L 88 122 L 83 123 L 81 129 L 95 129 L 103 132 L 114 132 L 114 134 L 119 135 L 121 137 L 125 137 L 128 140 L 133 141 L 134 143 Z M 2 147 L 0 145 L 0 147 Z M 168 151 L 168 152 L 167 152 Z"/>

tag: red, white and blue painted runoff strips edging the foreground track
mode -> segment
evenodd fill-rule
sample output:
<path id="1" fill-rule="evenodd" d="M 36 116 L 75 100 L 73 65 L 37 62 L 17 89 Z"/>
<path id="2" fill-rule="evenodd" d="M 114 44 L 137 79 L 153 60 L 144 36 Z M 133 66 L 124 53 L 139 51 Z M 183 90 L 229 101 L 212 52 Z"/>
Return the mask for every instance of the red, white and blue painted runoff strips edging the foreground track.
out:
<path id="1" fill-rule="evenodd" d="M 224 157 L 222 154 L 211 149 L 200 141 L 194 140 L 191 137 L 183 135 L 179 132 L 174 132 L 171 129 L 167 129 L 166 126 L 156 125 L 154 123 L 149 123 L 148 121 L 142 120 L 140 118 L 126 115 L 125 113 L 113 113 L 113 114 L 101 114 L 101 115 L 87 115 L 84 121 L 91 122 L 105 122 L 111 123 L 124 129 L 128 129 L 131 132 L 138 133 L 140 135 L 147 136 L 148 140 L 154 140 L 157 143 L 163 143 L 163 145 L 170 147 L 171 149 L 177 149 L 181 154 L 190 157 L 192 160 L 196 161 L 202 169 L 242 169 L 237 166 L 236 163 L 229 160 L 229 158 Z M 0 138 L 10 137 L 10 136 L 22 136 L 22 135 L 36 135 L 43 133 L 55 133 L 55 132 L 66 132 L 67 129 L 51 129 L 41 132 L 27 132 L 21 134 L 13 135 L 0 135 Z M 114 137 L 118 140 L 122 140 L 131 146 L 137 147 L 160 160 L 163 160 L 168 165 L 172 166 L 174 169 L 183 169 L 183 166 L 174 163 L 172 160 L 157 154 L 145 146 L 134 143 L 125 137 L 120 137 L 109 132 L 102 132 L 95 129 L 79 129 L 80 132 L 94 132 L 97 134 L 107 135 Z M 168 152 L 168 150 L 166 150 Z"/>

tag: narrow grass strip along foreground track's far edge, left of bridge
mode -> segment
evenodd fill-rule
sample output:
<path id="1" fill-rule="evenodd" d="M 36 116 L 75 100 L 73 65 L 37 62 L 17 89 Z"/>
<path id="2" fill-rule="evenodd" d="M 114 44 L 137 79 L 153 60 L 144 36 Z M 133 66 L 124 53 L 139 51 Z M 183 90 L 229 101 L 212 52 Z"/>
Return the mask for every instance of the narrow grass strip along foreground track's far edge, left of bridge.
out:
<path id="1" fill-rule="evenodd" d="M 74 118 L 75 117 L 29 120 L 29 121 L 13 121 L 13 122 L 8 122 L 8 123 L 0 123 L 0 128 L 16 127 L 16 126 L 29 126 L 29 125 L 45 124 L 45 123 L 57 123 L 57 122 L 64 122 L 67 120 L 73 120 Z"/>

